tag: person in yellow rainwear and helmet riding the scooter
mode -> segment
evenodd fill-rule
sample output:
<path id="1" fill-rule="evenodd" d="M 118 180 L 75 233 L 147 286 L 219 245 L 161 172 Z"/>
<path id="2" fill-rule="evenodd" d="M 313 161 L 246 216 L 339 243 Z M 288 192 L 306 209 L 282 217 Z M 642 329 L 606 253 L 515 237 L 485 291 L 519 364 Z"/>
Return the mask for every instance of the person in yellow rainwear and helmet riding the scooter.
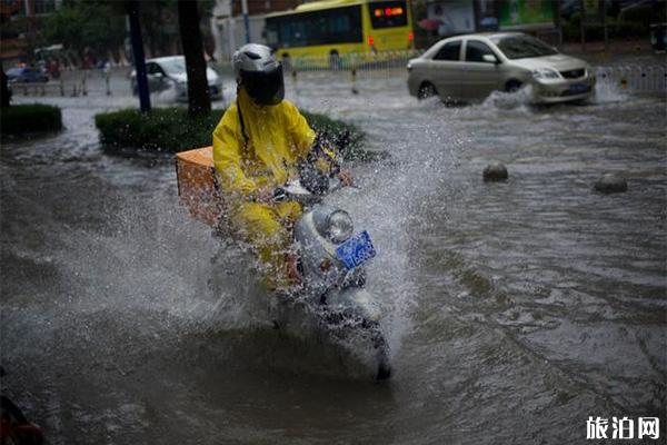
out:
<path id="1" fill-rule="evenodd" d="M 276 201 L 275 190 L 296 177 L 302 162 L 337 174 L 345 185 L 351 176 L 337 168 L 335 154 L 283 99 L 282 66 L 270 48 L 245 44 L 232 65 L 237 99 L 213 130 L 213 162 L 228 198 L 229 221 L 268 268 L 267 285 L 289 289 L 300 281 L 289 246 L 301 206 Z"/>

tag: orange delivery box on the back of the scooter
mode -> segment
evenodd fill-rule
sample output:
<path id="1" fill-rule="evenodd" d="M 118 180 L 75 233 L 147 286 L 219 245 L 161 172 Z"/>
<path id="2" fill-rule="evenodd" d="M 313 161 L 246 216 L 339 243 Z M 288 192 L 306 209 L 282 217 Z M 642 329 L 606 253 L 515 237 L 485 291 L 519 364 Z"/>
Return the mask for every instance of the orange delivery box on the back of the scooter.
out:
<path id="1" fill-rule="evenodd" d="M 213 166 L 213 148 L 203 147 L 177 154 L 176 177 L 178 195 L 190 214 L 216 227 L 225 207 Z"/>

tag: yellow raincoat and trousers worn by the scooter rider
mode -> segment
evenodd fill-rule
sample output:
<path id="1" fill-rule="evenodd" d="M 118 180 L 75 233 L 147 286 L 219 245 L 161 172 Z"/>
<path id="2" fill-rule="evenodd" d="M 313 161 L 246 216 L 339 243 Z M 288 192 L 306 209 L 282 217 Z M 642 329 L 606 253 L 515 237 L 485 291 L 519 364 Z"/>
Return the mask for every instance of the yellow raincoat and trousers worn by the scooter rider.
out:
<path id="1" fill-rule="evenodd" d="M 256 202 L 253 194 L 261 187 L 280 187 L 296 175 L 297 161 L 310 152 L 315 137 L 293 103 L 258 106 L 242 88 L 213 130 L 213 162 L 231 198 L 231 222 L 269 267 L 266 276 L 272 288 L 290 284 L 285 258 L 289 228 L 301 207 L 295 201 Z"/>

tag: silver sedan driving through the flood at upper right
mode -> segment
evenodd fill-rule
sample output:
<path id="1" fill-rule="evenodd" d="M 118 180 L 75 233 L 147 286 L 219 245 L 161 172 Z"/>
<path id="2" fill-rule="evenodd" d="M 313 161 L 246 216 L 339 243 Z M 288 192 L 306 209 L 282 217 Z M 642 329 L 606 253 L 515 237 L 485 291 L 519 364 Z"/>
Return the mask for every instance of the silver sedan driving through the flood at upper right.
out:
<path id="1" fill-rule="evenodd" d="M 520 32 L 451 37 L 408 62 L 408 89 L 418 98 L 445 102 L 481 101 L 492 91 L 531 87 L 532 101 L 585 100 L 595 93 L 595 75 L 583 60 Z"/>

